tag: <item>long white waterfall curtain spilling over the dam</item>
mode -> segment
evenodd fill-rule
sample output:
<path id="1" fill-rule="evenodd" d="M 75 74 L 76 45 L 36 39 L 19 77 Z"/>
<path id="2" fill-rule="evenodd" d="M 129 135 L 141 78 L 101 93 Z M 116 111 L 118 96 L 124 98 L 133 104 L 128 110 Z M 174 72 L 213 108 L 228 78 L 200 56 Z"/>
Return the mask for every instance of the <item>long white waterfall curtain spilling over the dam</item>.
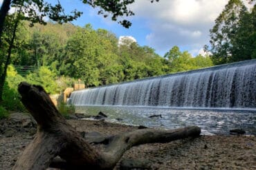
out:
<path id="1" fill-rule="evenodd" d="M 82 89 L 73 105 L 256 108 L 256 60 Z"/>

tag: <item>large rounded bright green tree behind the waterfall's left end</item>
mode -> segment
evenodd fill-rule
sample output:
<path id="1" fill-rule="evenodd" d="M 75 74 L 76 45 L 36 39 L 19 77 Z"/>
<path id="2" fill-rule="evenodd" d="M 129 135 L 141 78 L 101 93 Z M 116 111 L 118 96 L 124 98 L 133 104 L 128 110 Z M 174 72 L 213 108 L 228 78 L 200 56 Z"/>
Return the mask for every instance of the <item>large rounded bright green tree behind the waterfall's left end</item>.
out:
<path id="1" fill-rule="evenodd" d="M 82 78 L 87 87 L 121 81 L 115 39 L 107 30 L 93 30 L 89 24 L 78 28 L 66 45 L 64 74 Z"/>

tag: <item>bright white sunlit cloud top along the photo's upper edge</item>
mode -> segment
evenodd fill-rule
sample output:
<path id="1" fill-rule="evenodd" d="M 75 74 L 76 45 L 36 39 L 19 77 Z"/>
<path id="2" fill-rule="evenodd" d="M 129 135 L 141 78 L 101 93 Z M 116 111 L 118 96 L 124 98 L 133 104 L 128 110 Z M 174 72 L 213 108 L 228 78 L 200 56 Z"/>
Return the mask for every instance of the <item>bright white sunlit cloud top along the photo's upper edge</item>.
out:
<path id="1" fill-rule="evenodd" d="M 140 17 L 149 17 L 165 22 L 194 25 L 194 22 L 212 22 L 223 10 L 228 0 L 162 0 L 149 3 L 136 1 L 131 9 Z"/>

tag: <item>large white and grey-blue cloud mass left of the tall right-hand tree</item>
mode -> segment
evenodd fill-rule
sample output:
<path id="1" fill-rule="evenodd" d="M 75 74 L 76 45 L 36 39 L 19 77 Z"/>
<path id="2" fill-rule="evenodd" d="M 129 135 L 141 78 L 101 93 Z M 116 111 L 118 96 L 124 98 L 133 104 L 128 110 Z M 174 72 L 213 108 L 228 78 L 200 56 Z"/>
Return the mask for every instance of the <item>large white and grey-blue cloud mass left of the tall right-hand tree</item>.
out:
<path id="1" fill-rule="evenodd" d="M 149 0 L 136 1 L 131 10 L 135 19 L 146 19 L 149 30 L 147 43 L 156 50 L 170 50 L 174 45 L 197 47 L 197 52 L 209 41 L 214 25 L 228 0 Z"/>

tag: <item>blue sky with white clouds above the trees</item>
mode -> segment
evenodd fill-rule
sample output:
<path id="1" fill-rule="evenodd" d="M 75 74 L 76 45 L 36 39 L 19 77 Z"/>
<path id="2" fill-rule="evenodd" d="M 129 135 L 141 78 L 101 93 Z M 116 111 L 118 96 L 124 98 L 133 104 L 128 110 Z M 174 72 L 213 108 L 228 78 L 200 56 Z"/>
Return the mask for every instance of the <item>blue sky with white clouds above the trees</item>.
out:
<path id="1" fill-rule="evenodd" d="M 3 0 L 0 0 L 0 3 Z M 47 0 L 57 3 L 57 0 Z M 98 15 L 98 10 L 84 5 L 80 0 L 60 0 L 65 13 L 73 9 L 82 11 L 82 17 L 73 21 L 84 26 L 91 23 L 94 29 L 103 28 L 119 36 L 132 36 L 141 46 L 148 45 L 164 56 L 174 45 L 193 56 L 203 52 L 203 45 L 210 41 L 209 30 L 214 25 L 228 0 L 135 0 L 129 9 L 135 15 L 128 17 L 129 29 L 110 18 Z"/>

